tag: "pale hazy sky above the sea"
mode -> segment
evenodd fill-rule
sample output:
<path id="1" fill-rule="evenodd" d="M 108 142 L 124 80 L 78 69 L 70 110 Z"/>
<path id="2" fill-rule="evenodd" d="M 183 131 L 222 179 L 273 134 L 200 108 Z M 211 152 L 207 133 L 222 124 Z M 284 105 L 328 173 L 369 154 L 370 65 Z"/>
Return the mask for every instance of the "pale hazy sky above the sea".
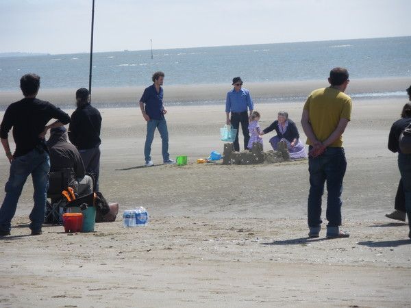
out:
<path id="1" fill-rule="evenodd" d="M 0 0 L 0 52 L 90 50 L 92 0 Z M 94 51 L 411 36 L 410 0 L 95 0 Z"/>

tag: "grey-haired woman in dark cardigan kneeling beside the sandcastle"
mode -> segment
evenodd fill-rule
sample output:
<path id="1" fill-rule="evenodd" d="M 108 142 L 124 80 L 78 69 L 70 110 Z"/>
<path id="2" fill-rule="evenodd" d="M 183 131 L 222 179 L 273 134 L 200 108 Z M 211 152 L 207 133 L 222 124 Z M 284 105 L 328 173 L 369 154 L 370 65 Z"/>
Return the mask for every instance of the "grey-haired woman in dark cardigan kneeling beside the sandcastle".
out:
<path id="1" fill-rule="evenodd" d="M 299 133 L 295 123 L 288 118 L 287 112 L 279 112 L 277 120 L 275 120 L 269 127 L 264 129 L 260 135 L 269 133 L 275 130 L 277 136 L 270 139 L 271 146 L 277 151 L 277 144 L 280 141 L 286 142 L 290 158 L 306 158 L 307 153 L 304 145 L 299 141 Z"/>

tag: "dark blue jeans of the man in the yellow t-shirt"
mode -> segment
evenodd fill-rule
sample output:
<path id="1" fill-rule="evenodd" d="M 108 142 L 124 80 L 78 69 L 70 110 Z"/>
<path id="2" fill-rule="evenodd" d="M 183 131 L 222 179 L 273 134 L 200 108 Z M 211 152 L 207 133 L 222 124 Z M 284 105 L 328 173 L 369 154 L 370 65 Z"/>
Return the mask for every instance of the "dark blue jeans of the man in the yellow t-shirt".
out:
<path id="1" fill-rule="evenodd" d="M 310 146 L 310 150 L 312 146 Z M 321 197 L 327 181 L 327 227 L 341 225 L 341 193 L 347 161 L 343 148 L 327 148 L 319 157 L 309 157 L 310 193 L 308 194 L 308 227 L 321 226 Z"/>

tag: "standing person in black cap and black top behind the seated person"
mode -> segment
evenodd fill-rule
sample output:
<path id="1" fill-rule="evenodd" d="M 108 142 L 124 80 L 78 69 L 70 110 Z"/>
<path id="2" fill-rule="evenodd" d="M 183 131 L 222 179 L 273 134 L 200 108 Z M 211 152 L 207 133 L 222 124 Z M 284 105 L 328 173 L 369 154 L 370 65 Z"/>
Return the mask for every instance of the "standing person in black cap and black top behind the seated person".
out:
<path id="1" fill-rule="evenodd" d="M 75 97 L 77 109 L 71 115 L 69 139 L 79 150 L 86 172 L 95 177 L 95 190 L 98 191 L 101 115 L 99 110 L 90 105 L 90 92 L 86 88 L 79 88 Z"/>

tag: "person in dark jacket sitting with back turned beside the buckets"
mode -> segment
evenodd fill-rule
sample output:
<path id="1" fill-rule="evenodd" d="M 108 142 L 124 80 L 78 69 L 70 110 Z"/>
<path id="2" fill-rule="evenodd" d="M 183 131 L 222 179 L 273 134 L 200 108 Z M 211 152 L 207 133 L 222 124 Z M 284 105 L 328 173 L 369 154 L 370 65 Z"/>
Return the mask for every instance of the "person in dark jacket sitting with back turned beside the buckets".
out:
<path id="1" fill-rule="evenodd" d="M 77 148 L 67 141 L 67 131 L 64 127 L 50 130 L 50 138 L 47 140 L 50 151 L 51 171 L 66 168 L 71 172 L 70 186 L 74 188 L 79 196 L 92 193 L 92 179 L 85 174 L 84 164 Z"/>

